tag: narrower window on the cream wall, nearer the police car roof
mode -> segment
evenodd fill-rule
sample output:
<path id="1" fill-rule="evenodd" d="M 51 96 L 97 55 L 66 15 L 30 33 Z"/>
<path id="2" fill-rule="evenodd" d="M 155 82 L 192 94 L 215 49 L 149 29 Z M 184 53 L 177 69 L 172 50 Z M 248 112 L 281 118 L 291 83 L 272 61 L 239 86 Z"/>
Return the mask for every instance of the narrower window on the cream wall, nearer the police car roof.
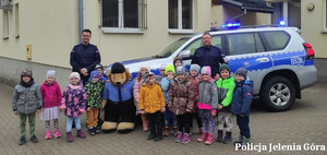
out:
<path id="1" fill-rule="evenodd" d="M 168 1 L 168 27 L 172 33 L 193 32 L 193 0 Z"/>

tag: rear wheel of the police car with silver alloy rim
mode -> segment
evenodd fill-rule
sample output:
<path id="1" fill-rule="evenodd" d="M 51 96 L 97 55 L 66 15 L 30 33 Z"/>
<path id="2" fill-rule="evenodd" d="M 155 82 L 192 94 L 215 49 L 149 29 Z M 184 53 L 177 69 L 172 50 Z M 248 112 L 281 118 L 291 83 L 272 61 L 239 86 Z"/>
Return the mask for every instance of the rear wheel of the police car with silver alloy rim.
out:
<path id="1" fill-rule="evenodd" d="M 269 110 L 286 111 L 295 102 L 295 88 L 287 78 L 275 76 L 264 84 L 261 98 Z"/>

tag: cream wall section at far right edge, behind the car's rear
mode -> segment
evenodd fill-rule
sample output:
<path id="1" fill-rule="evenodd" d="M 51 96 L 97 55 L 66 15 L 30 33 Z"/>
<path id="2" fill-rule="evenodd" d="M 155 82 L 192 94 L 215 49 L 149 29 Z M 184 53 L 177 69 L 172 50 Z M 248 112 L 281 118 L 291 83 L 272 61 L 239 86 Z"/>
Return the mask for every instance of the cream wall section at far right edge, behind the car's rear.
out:
<path id="1" fill-rule="evenodd" d="M 312 45 L 316 58 L 327 58 L 327 32 L 323 32 L 325 0 L 301 1 L 301 36 Z M 306 5 L 313 3 L 315 9 L 307 11 Z"/>

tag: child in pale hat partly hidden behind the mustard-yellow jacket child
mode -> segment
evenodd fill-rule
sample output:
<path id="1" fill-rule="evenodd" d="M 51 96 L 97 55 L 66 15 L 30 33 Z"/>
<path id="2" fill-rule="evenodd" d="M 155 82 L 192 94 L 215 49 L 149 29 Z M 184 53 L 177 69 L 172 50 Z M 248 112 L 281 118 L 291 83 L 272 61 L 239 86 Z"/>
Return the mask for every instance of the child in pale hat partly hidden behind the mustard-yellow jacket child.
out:
<path id="1" fill-rule="evenodd" d="M 143 76 L 146 72 L 150 72 L 150 67 L 148 64 L 142 64 L 140 67 L 137 76 L 135 78 L 135 83 L 134 83 L 134 87 L 133 87 L 133 95 L 134 95 L 134 99 L 135 99 L 137 114 L 140 114 L 140 105 L 138 105 L 140 90 L 142 87 Z M 144 114 L 141 114 L 141 119 L 143 122 L 143 131 L 148 131 L 148 122 L 147 122 L 146 116 Z"/>

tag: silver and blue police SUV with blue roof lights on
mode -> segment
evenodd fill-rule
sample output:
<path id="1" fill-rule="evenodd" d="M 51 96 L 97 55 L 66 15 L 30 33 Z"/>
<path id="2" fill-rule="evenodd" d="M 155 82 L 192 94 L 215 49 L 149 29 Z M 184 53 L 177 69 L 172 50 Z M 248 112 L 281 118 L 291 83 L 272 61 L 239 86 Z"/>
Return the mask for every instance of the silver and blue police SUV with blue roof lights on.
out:
<path id="1" fill-rule="evenodd" d="M 232 29 L 226 28 L 232 26 Z M 254 82 L 254 95 L 259 96 L 271 111 L 284 111 L 301 98 L 301 90 L 317 80 L 314 50 L 299 35 L 296 27 L 227 25 L 222 31 L 213 28 L 211 45 L 226 55 L 231 72 L 244 67 Z M 149 64 L 152 72 L 159 74 L 162 63 L 172 63 L 181 57 L 190 68 L 192 56 L 202 46 L 202 34 L 186 36 L 172 43 L 160 53 L 122 63 L 136 76 L 142 64 Z M 108 67 L 110 69 L 110 65 Z"/>

